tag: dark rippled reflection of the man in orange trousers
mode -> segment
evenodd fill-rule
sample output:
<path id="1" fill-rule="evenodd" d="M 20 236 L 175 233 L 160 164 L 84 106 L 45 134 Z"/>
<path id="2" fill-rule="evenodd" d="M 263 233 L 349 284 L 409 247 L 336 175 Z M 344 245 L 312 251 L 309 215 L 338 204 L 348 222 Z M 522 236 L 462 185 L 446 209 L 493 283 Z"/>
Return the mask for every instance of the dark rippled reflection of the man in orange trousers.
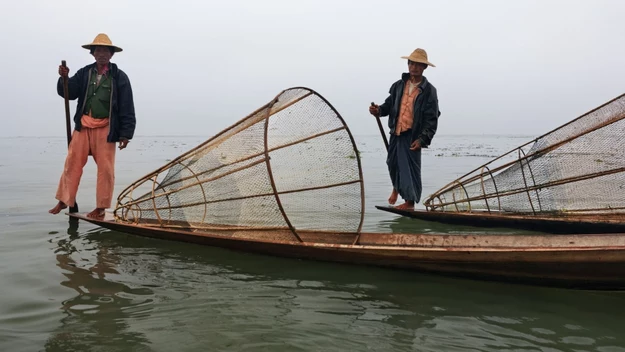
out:
<path id="1" fill-rule="evenodd" d="M 117 282 L 112 275 L 119 274 L 116 267 L 120 257 L 97 242 L 88 241 L 93 258 L 85 258 L 84 247 L 78 231 L 79 222 L 70 221 L 69 237 L 58 241 L 57 266 L 66 280 L 60 284 L 77 294 L 62 302 L 65 317 L 61 326 L 46 341 L 46 351 L 88 351 L 95 346 L 119 346 L 123 342 L 131 351 L 148 350 L 148 340 L 143 333 L 132 331 L 129 325 L 133 307 L 150 302 L 148 289 L 132 289 Z M 93 246 L 95 245 L 95 246 Z"/>

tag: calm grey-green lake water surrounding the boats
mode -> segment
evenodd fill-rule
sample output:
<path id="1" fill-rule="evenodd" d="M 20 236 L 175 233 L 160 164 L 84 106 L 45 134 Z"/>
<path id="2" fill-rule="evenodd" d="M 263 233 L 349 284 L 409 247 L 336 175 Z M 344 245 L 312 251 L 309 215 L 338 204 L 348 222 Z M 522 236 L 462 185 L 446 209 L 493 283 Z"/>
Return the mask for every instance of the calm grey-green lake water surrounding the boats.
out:
<path id="1" fill-rule="evenodd" d="M 137 137 L 116 195 L 207 137 Z M 378 136 L 362 152 L 364 231 L 480 233 L 378 211 Z M 437 136 L 424 195 L 532 139 Z M 625 293 L 301 261 L 146 239 L 52 216 L 64 138 L 0 139 L 0 351 L 625 351 Z M 78 202 L 95 202 L 95 165 Z M 513 234 L 513 230 L 489 232 Z"/>

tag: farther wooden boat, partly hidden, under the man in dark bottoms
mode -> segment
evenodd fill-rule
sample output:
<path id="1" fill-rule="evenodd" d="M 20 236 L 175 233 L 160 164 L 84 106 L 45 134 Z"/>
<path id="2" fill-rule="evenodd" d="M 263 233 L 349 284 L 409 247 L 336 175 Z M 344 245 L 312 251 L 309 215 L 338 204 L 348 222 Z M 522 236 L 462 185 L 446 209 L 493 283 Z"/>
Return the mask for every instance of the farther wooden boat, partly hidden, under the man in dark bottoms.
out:
<path id="1" fill-rule="evenodd" d="M 555 234 L 625 233 L 625 216 L 617 214 L 540 216 L 515 213 L 497 214 L 485 211 L 401 210 L 388 206 L 376 206 L 376 208 L 409 218 L 453 225 L 508 227 Z"/>

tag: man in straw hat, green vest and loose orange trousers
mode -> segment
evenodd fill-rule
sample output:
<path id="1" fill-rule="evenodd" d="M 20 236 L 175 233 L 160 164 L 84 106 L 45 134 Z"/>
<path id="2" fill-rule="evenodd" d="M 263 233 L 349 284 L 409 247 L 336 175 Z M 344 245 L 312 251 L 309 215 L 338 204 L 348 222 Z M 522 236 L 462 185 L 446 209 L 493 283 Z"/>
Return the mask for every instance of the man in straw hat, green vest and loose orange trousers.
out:
<path id="1" fill-rule="evenodd" d="M 83 48 L 89 50 L 95 62 L 76 72 L 68 81 L 68 98 L 78 99 L 75 128 L 65 167 L 56 192 L 57 205 L 50 213 L 58 214 L 68 206 L 74 206 L 78 184 L 87 157 L 93 156 L 97 164 L 96 208 L 87 214 L 91 218 L 104 217 L 104 209 L 110 208 L 115 185 L 115 143 L 124 149 L 135 131 L 135 108 L 128 76 L 114 63 L 113 54 L 122 51 L 113 45 L 106 34 L 98 34 L 92 43 Z M 57 91 L 63 94 L 63 78 L 69 68 L 59 66 Z"/>

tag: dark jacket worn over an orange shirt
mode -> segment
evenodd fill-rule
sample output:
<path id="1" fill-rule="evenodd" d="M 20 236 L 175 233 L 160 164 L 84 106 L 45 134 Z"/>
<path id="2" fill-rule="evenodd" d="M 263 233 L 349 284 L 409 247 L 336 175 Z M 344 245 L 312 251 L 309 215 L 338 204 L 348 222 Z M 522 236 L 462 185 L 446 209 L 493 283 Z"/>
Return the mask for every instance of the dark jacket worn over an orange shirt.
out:
<path id="1" fill-rule="evenodd" d="M 397 119 L 399 118 L 399 109 L 401 107 L 401 98 L 404 94 L 406 81 L 410 79 L 409 73 L 404 73 L 401 79 L 391 86 L 389 96 L 384 104 L 380 105 L 380 116 L 389 116 L 388 127 L 391 133 L 395 131 Z M 436 133 L 438 125 L 438 117 L 441 112 L 438 110 L 438 95 L 436 88 L 425 78 L 421 80 L 419 85 L 419 95 L 414 102 L 414 115 L 411 129 L 411 142 L 419 140 L 422 148 L 427 148 L 432 143 L 432 138 Z"/>

